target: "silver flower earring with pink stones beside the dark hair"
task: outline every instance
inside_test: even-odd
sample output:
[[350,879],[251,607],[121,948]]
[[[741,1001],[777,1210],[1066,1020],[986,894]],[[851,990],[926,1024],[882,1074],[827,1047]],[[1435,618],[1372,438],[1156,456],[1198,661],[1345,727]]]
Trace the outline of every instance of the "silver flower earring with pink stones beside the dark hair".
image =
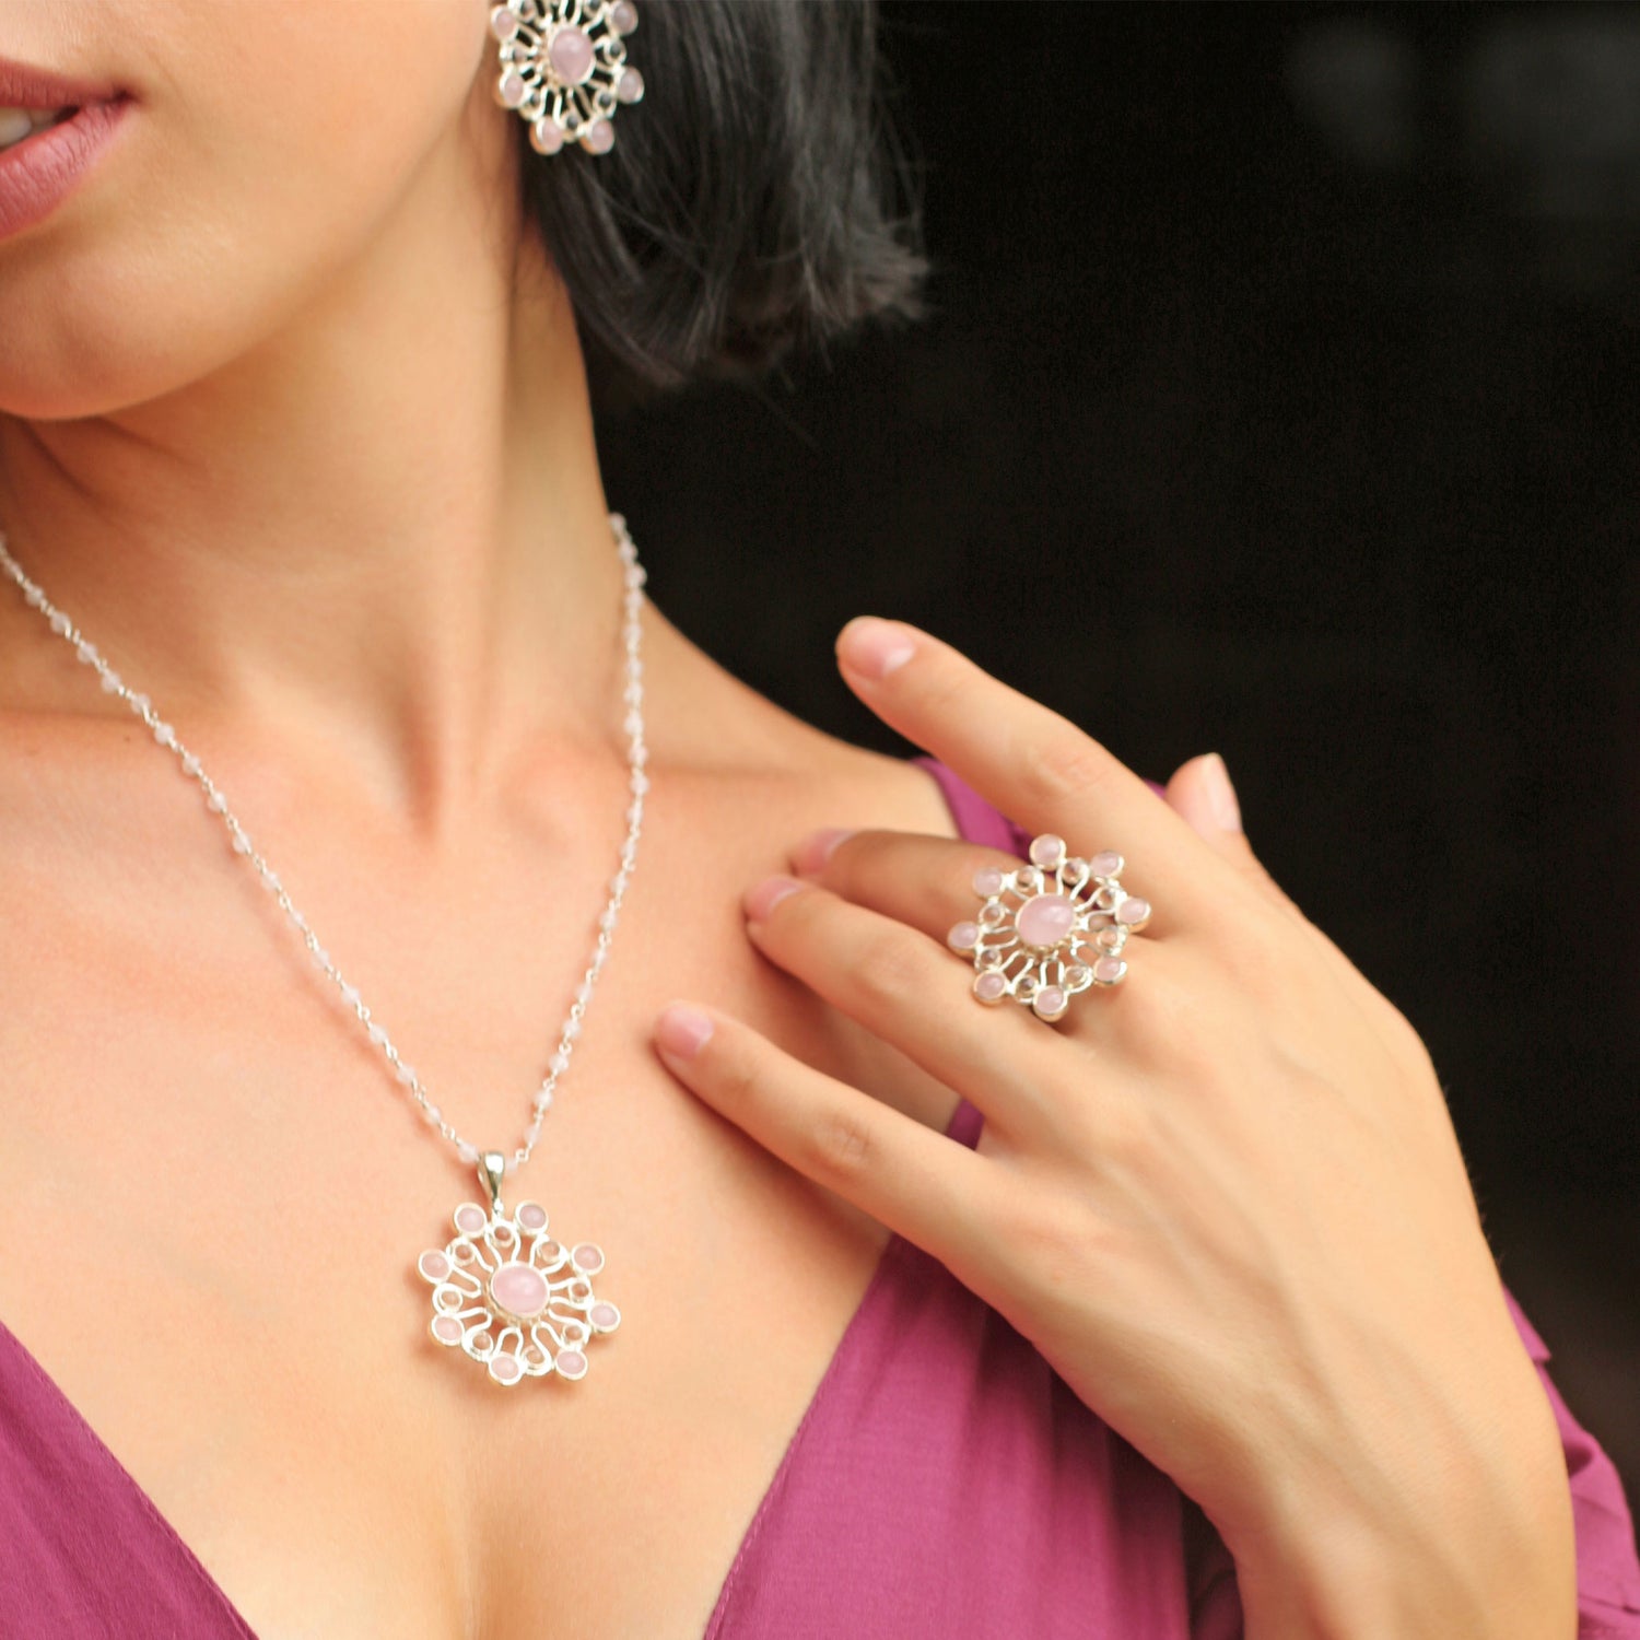
[[495,100],[530,126],[538,154],[564,143],[589,154],[615,146],[615,107],[643,97],[643,75],[626,66],[636,26],[631,0],[507,0],[490,11],[500,41]]

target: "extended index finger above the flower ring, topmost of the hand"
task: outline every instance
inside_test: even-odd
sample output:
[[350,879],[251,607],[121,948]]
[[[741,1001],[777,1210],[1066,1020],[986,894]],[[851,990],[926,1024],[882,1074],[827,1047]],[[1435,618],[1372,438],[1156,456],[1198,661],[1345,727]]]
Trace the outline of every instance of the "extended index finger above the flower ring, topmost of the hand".
[[1209,912],[1223,892],[1214,853],[1145,781],[950,645],[904,622],[859,617],[838,636],[838,664],[884,723],[1010,820],[1066,838],[1077,854],[1123,854],[1135,877],[1123,886],[1155,899],[1159,917]]

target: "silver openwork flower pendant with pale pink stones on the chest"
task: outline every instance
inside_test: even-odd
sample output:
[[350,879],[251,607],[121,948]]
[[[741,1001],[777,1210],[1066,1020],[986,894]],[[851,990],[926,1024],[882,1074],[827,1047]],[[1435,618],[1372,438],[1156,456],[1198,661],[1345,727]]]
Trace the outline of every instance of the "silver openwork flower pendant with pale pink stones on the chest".
[[592,1296],[604,1250],[592,1241],[566,1248],[546,1233],[546,1209],[500,1197],[505,1156],[487,1150],[479,1181],[489,1209],[462,1202],[454,1240],[428,1248],[417,1271],[433,1284],[430,1332],[482,1361],[497,1384],[525,1378],[587,1376],[587,1342],[620,1327],[620,1310]]

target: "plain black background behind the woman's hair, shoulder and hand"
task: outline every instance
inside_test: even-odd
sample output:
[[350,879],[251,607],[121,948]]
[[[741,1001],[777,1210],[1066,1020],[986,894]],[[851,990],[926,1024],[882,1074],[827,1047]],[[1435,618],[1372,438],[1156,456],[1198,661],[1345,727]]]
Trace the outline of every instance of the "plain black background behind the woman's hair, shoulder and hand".
[[1640,1496],[1640,8],[887,3],[933,317],[608,418],[656,600],[895,746],[900,615],[1164,779],[1217,748],[1424,1035]]

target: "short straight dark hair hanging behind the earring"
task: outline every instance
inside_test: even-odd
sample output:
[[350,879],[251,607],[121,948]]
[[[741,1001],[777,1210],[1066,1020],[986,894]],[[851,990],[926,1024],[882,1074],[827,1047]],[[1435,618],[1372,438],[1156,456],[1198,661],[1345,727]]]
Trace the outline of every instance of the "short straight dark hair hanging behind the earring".
[[927,264],[874,0],[636,0],[643,102],[615,148],[523,151],[525,207],[599,397],[756,376],[868,318]]

